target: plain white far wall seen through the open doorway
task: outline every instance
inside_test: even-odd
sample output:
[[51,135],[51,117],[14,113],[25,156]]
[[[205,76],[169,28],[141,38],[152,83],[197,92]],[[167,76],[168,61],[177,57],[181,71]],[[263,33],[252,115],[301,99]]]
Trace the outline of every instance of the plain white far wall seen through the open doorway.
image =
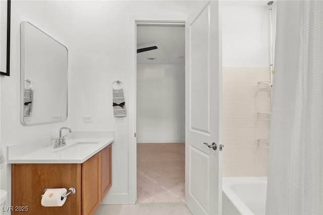
[[185,142],[185,65],[137,65],[137,143]]

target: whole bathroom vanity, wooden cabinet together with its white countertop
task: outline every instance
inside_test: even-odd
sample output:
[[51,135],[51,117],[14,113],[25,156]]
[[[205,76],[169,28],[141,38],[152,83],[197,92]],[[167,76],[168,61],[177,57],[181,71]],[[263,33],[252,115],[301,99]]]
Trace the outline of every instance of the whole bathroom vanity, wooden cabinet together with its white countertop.
[[[67,138],[67,146],[54,149],[51,144],[19,155],[11,153],[17,151],[18,145],[8,146],[12,214],[93,214],[112,186],[113,141],[114,138]],[[41,205],[45,188],[71,187],[76,193],[69,195],[63,206]]]

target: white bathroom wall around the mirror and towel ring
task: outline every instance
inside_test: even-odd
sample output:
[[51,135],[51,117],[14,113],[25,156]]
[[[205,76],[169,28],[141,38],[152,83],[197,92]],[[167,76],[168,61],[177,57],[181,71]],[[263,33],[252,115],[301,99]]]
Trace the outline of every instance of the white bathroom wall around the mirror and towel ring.
[[[133,15],[185,17],[192,1],[12,1],[11,76],[1,77],[1,144],[55,135],[62,126],[77,130],[114,130],[113,186],[103,203],[128,203],[128,117],[115,123],[111,84],[124,83],[128,101],[130,32]],[[29,21],[69,49],[69,112],[63,123],[20,123],[20,22]],[[92,115],[92,123],[82,116]],[[10,166],[1,188],[10,192]],[[10,199],[10,197],[9,197]],[[10,202],[9,202],[10,205]]]

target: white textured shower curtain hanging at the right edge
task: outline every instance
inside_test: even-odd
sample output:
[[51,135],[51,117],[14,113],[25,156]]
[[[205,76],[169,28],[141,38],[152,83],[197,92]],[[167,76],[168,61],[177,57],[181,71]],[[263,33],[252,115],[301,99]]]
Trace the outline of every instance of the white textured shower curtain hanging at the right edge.
[[277,1],[266,214],[323,214],[323,2]]

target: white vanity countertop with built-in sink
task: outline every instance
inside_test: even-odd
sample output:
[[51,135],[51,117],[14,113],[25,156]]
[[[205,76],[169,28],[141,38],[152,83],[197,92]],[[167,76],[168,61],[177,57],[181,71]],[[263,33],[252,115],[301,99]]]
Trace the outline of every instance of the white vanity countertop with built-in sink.
[[114,132],[74,132],[66,137],[66,146],[60,148],[53,148],[53,140],[55,138],[48,137],[8,146],[8,163],[82,164],[110,145],[114,141]]

